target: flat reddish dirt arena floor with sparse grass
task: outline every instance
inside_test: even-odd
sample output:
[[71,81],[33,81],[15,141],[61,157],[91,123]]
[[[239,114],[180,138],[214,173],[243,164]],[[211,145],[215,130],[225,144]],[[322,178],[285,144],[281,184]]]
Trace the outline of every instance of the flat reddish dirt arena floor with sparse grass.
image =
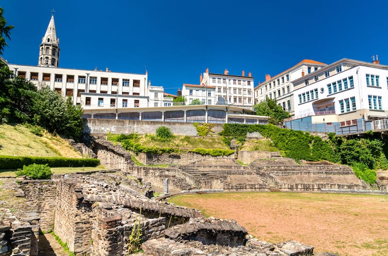
[[314,246],[314,252],[340,256],[388,255],[388,196],[248,192],[186,195],[169,202],[235,219],[260,240],[297,240]]

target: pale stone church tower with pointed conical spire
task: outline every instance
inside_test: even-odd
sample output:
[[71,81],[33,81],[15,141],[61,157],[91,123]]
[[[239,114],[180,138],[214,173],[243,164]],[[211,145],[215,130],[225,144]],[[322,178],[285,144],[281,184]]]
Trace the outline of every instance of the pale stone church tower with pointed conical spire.
[[59,39],[55,32],[54,10],[52,10],[49,26],[40,44],[38,66],[58,68],[59,50]]

